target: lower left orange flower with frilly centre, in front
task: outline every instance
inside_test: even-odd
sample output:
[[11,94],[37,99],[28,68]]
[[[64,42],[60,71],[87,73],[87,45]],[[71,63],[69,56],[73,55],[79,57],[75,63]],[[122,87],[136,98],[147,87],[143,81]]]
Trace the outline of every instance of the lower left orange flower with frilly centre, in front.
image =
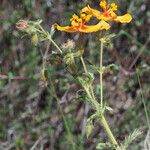
[[57,30],[60,31],[65,31],[65,32],[85,32],[85,33],[90,33],[90,32],[97,32],[99,30],[108,30],[110,28],[110,25],[106,23],[105,21],[100,21],[96,25],[85,25],[88,21],[91,19],[91,15],[87,15],[85,13],[82,13],[80,15],[80,18],[74,14],[72,18],[70,19],[71,21],[71,26],[59,26],[58,24],[54,24],[54,28],[57,28]]

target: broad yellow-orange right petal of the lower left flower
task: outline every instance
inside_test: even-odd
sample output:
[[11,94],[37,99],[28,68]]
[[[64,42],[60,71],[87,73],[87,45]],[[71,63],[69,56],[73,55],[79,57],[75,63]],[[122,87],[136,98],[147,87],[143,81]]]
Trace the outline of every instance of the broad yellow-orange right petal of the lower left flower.
[[109,28],[110,28],[110,25],[102,20],[97,25],[92,25],[92,26],[84,25],[79,28],[79,31],[85,32],[85,33],[91,33],[91,32],[97,32],[97,31],[104,30],[104,29],[108,30]]

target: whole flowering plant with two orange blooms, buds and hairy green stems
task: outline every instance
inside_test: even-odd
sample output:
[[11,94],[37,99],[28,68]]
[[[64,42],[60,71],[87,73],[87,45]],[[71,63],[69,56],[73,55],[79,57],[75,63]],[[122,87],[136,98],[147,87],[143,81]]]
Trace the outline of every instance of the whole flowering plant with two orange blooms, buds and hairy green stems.
[[[103,66],[103,47],[110,43],[112,34],[100,37],[100,62],[99,66],[92,65],[93,69],[99,73],[99,84],[100,84],[100,97],[97,97],[94,93],[94,74],[91,73],[84,61],[84,47],[83,47],[83,33],[92,33],[92,32],[104,32],[110,29],[110,21],[120,22],[120,23],[129,23],[132,20],[132,16],[127,13],[123,16],[118,16],[115,11],[117,10],[118,6],[115,3],[107,3],[105,0],[100,2],[100,7],[103,11],[99,11],[96,9],[91,8],[89,5],[84,7],[80,12],[80,17],[76,14],[73,14],[72,18],[70,19],[71,25],[70,26],[60,26],[58,24],[54,24],[52,27],[63,32],[78,32],[79,33],[79,42],[80,42],[80,50],[76,52],[72,52],[70,49],[66,53],[63,48],[60,48],[56,42],[52,39],[52,35],[54,32],[47,32],[41,26],[41,21],[18,21],[17,28],[27,34],[32,35],[32,41],[35,45],[37,45],[38,39],[40,38],[41,41],[49,41],[51,42],[56,49],[58,50],[59,54],[62,56],[63,63],[67,66],[67,70],[69,73],[74,77],[75,80],[79,82],[82,89],[86,93],[86,96],[83,98],[85,102],[88,102],[89,105],[95,110],[95,112],[87,119],[86,125],[86,134],[87,137],[91,134],[92,129],[94,127],[93,120],[98,120],[101,125],[103,126],[104,130],[106,131],[109,143],[106,143],[105,146],[111,147],[116,150],[125,150],[127,144],[121,145],[117,142],[115,136],[113,135],[109,124],[106,120],[106,111],[111,110],[110,107],[106,105],[103,96],[103,74],[104,72],[114,66],[114,64],[110,64],[108,66]],[[96,25],[86,25],[86,23],[90,22],[90,19],[95,17],[98,19],[98,23]],[[82,74],[78,72],[77,64],[75,63],[75,59],[80,59],[83,72]],[[43,66],[44,68],[44,66]],[[47,81],[47,74],[46,71],[42,70],[42,79],[46,82]],[[47,86],[47,84],[46,84]],[[100,101],[100,102],[99,102]],[[97,148],[104,146],[104,143],[100,143]]]

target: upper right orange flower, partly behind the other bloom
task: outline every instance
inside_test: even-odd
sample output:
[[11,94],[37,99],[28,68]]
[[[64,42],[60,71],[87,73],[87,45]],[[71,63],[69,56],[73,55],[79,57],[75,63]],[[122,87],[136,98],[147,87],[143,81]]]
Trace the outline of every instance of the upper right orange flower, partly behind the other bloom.
[[100,7],[102,8],[103,12],[92,9],[89,5],[83,8],[81,12],[92,15],[97,19],[104,21],[129,23],[132,20],[132,16],[128,13],[123,16],[117,16],[115,11],[118,9],[118,6],[115,3],[107,4],[106,0],[102,0],[100,2]]

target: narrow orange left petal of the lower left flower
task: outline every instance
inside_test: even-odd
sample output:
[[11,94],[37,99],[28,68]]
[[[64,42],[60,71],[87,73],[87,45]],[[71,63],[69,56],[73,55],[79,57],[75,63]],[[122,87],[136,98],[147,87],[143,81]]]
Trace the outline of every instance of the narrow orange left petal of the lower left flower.
[[61,27],[58,24],[54,24],[53,26],[54,26],[54,28],[56,28],[59,31],[65,31],[65,32],[77,32],[78,31],[78,29],[76,27],[73,27],[73,26]]

